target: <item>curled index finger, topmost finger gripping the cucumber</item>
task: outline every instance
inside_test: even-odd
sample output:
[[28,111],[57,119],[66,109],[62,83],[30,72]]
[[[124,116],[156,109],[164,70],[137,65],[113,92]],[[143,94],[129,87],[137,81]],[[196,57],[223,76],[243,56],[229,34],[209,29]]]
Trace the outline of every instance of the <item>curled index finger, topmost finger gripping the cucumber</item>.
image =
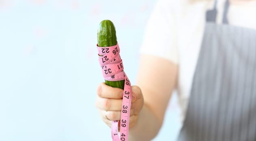
[[97,89],[97,94],[99,97],[121,99],[123,98],[123,89],[110,87],[105,83],[100,83]]

